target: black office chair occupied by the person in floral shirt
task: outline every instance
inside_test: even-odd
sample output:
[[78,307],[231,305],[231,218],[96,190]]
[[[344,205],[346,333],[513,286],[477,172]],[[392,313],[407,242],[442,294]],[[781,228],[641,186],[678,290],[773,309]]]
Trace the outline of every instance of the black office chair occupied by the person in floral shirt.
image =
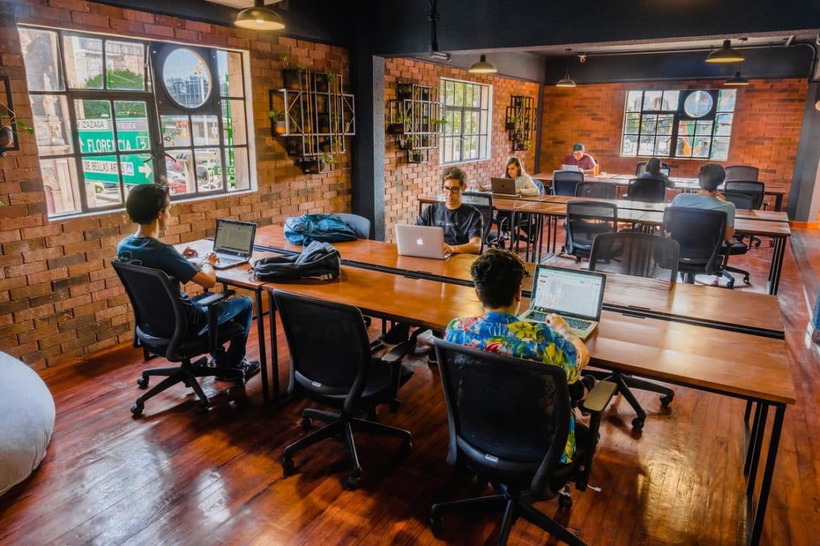
[[565,485],[575,482],[577,490],[586,489],[600,415],[615,386],[600,382],[587,396],[584,408],[591,413],[590,426],[575,423],[575,456],[572,463],[561,463],[572,416],[563,368],[439,339],[435,351],[449,422],[447,463],[471,469],[480,481],[497,484],[501,492],[434,504],[433,530],[441,530],[446,513],[498,510],[504,514],[498,544],[507,544],[519,517],[567,544],[584,544],[532,503],[561,495],[561,505],[569,506],[572,498],[563,491]]

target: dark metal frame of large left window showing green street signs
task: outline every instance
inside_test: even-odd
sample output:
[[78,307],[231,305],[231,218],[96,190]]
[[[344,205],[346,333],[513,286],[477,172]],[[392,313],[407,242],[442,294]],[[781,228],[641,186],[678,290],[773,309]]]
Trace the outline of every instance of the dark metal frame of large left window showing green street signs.
[[[81,215],[88,215],[88,214],[104,214],[107,212],[112,212],[116,210],[124,210],[125,209],[125,183],[123,181],[123,173],[121,169],[121,158],[122,156],[134,156],[134,155],[148,155],[151,156],[151,162],[153,164],[153,180],[155,183],[162,183],[166,187],[168,187],[168,173],[166,168],[166,154],[168,151],[180,151],[180,150],[190,150],[194,154],[193,159],[193,169],[194,172],[192,173],[194,176],[194,191],[193,192],[185,192],[185,193],[176,193],[171,195],[172,201],[190,201],[202,197],[212,197],[212,196],[230,196],[235,193],[239,192],[247,192],[253,191],[256,188],[256,180],[255,174],[256,169],[255,165],[253,165],[253,160],[255,159],[255,151],[253,151],[253,124],[252,118],[248,109],[252,108],[252,98],[250,97],[251,89],[248,85],[248,74],[246,74],[247,69],[247,56],[244,52],[229,49],[229,48],[222,48],[222,47],[202,47],[194,44],[183,44],[183,43],[175,43],[175,42],[165,42],[165,41],[157,41],[157,40],[146,40],[140,38],[130,38],[127,36],[119,36],[116,34],[98,34],[93,32],[84,32],[74,29],[59,29],[59,28],[52,28],[52,27],[45,27],[39,25],[25,25],[20,24],[17,25],[18,29],[27,29],[27,30],[36,30],[36,31],[43,31],[49,32],[56,35],[56,49],[55,55],[57,56],[56,64],[57,70],[59,70],[60,78],[62,79],[62,89],[57,90],[43,90],[43,91],[32,91],[29,90],[28,93],[31,97],[43,97],[43,96],[52,96],[58,97],[58,100],[62,101],[65,100],[66,104],[66,112],[62,115],[62,122],[68,124],[64,130],[66,133],[70,133],[70,141],[71,141],[71,153],[62,153],[62,154],[55,154],[55,155],[41,155],[41,151],[38,148],[38,160],[73,160],[73,165],[75,168],[75,176],[76,180],[71,180],[71,184],[75,185],[76,187],[71,187],[71,192],[76,192],[75,197],[77,201],[79,201],[80,206],[79,210],[71,210],[61,213],[54,213],[49,214],[49,219],[65,219],[71,218],[73,216],[81,216]],[[69,38],[87,38],[98,40],[101,43],[101,52],[102,52],[102,77],[103,77],[103,88],[100,89],[91,89],[91,88],[76,88],[71,86],[71,81],[69,79],[68,68],[66,66],[66,43],[65,40]],[[134,90],[134,89],[110,89],[107,88],[108,81],[107,81],[107,73],[108,73],[108,62],[107,62],[107,42],[125,42],[125,43],[133,43],[134,45],[139,45],[143,48],[143,85],[144,88],[142,91]],[[155,49],[160,49],[166,52],[166,55],[171,54],[171,52],[176,51],[178,49],[190,49],[194,52],[197,52],[198,55],[203,56],[203,59],[207,61],[207,68],[210,71],[211,76],[211,92],[207,98],[207,101],[197,108],[187,109],[178,105],[176,102],[171,102],[171,108],[167,108],[164,105],[161,105],[161,97],[162,100],[166,100],[168,97],[165,89],[165,83],[162,79],[162,65],[157,65],[155,62],[156,52]],[[222,95],[222,87],[219,80],[219,66],[217,63],[217,56],[219,52],[225,52],[230,58],[230,54],[234,53],[237,54],[237,58],[240,63],[239,67],[239,74],[242,81],[242,95],[236,95],[235,91],[232,91],[228,88],[227,94],[225,96]],[[24,56],[24,63],[25,63],[25,56]],[[227,74],[228,66],[230,65],[230,61],[225,65],[225,70]],[[59,87],[59,85],[56,85]],[[98,151],[98,152],[83,152],[82,147],[80,147],[80,131],[78,129],[78,122],[77,122],[77,110],[75,101],[89,101],[89,100],[97,100],[108,102],[112,108],[111,114],[111,124],[112,124],[112,138],[115,141],[115,150],[114,151]],[[223,116],[223,102],[236,102],[241,101],[243,106],[243,116],[242,116],[242,123],[244,124],[244,144],[235,144],[231,142],[229,144],[229,139],[225,133],[225,118]],[[142,102],[145,104],[146,108],[146,118],[148,124],[148,142],[150,142],[150,147],[148,149],[138,149],[138,150],[121,150],[118,146],[116,146],[117,140],[117,128],[116,128],[116,102]],[[61,103],[62,104],[62,103]],[[61,106],[62,107],[62,106]],[[230,106],[229,106],[230,108]],[[188,117],[189,123],[189,133],[190,133],[190,143],[188,146],[180,146],[180,147],[166,147],[165,142],[163,142],[163,133],[162,133],[162,124],[161,124],[161,115],[186,115]],[[193,125],[193,118],[198,115],[216,115],[216,121],[218,125],[218,137],[216,138],[215,144],[203,144],[203,145],[194,145],[194,125]],[[236,178],[234,178],[235,182],[235,189],[230,190],[229,188],[229,179],[228,179],[228,166],[225,164],[225,160],[229,157],[229,153],[235,159],[235,151],[239,148],[244,148],[246,151],[244,153],[245,161],[247,161],[247,165],[244,165],[244,169],[247,172],[248,181],[247,181],[247,188],[239,187],[239,184],[236,183]],[[196,171],[197,171],[197,163],[195,160],[196,153],[198,150],[206,150],[206,149],[214,149],[217,151],[219,155],[219,166],[220,166],[220,173],[221,173],[221,187],[211,191],[202,191],[199,187],[198,179],[196,178]],[[112,203],[111,205],[102,205],[102,206],[94,206],[89,207],[89,198],[87,192],[87,178],[84,173],[83,169],[83,160],[93,159],[94,157],[101,157],[101,156],[115,156],[118,170],[118,191],[119,191],[119,202]],[[234,165],[234,169],[236,169],[237,165]],[[75,201],[76,202],[76,201]]]

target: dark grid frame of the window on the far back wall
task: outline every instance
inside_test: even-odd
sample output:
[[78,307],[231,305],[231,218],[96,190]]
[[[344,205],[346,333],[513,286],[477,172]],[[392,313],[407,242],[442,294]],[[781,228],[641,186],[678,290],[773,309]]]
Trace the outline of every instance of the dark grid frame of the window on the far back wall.
[[[712,97],[712,106],[709,108],[708,112],[704,115],[699,117],[694,117],[686,113],[685,110],[685,103],[686,99],[690,97],[693,93],[704,92],[708,93],[710,97]],[[735,101],[732,103],[731,111],[730,110],[720,110],[720,96],[721,93],[728,93],[734,92],[735,93]],[[630,111],[629,107],[629,98],[630,93],[640,93],[640,109],[636,111]],[[647,109],[645,108],[645,101],[646,101],[646,93],[661,93],[662,103],[660,109]],[[665,93],[678,93],[677,97],[677,105],[675,108],[670,108],[667,110],[663,109],[663,96]],[[686,160],[700,160],[700,161],[723,161],[727,160],[729,154],[729,147],[731,146],[731,125],[734,124],[734,115],[736,110],[736,102],[737,102],[737,91],[736,89],[628,89],[626,91],[626,96],[624,97],[624,114],[623,114],[623,124],[621,130],[621,150],[619,156],[621,157],[663,157],[669,159],[686,159]],[[717,116],[718,115],[725,115],[731,114],[732,115],[732,123],[729,127],[728,134],[717,134]],[[637,133],[627,133],[627,122],[629,121],[630,115],[638,115],[638,129]],[[654,132],[652,136],[654,138],[654,153],[652,154],[643,154],[640,153],[640,142],[641,137],[649,136],[649,133],[644,133],[644,119],[645,116],[661,116],[661,115],[672,115],[672,132],[669,133],[669,152],[667,154],[659,154],[657,151],[657,139],[658,136],[666,136],[665,134],[658,135],[658,124],[657,118],[656,123],[654,126]],[[693,133],[691,135],[687,135],[687,138],[691,138],[692,140],[692,147],[694,147],[695,139],[698,137],[708,137],[708,153],[705,156],[698,156],[695,157],[693,155],[685,156],[685,155],[678,155],[677,153],[677,146],[678,146],[678,138],[680,137],[680,127],[681,122],[694,122],[693,125]],[[697,124],[699,122],[709,122],[711,124],[711,129],[709,130],[708,134],[698,134],[697,133]],[[635,137],[635,154],[625,154],[624,153],[624,143],[626,142],[626,137]],[[726,158],[713,158],[713,151],[714,151],[714,143],[715,138],[726,139],[727,142],[727,157]]]

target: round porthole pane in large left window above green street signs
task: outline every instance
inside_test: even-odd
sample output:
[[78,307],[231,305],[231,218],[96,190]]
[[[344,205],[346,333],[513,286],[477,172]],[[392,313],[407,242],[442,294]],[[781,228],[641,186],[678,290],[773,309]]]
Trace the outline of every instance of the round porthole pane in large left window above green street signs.
[[186,47],[180,47],[165,59],[162,84],[177,105],[198,108],[205,104],[211,94],[211,71],[202,56]]

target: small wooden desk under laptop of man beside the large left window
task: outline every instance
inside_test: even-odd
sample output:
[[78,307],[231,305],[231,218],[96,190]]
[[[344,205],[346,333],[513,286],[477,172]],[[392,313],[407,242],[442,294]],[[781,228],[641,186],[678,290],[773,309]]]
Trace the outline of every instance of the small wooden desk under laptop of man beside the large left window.
[[[175,245],[176,250],[182,252],[186,246],[190,246],[197,250],[199,255],[205,255],[213,250],[213,241],[210,239],[199,239],[187,243],[180,243]],[[273,252],[265,252],[254,250],[251,257],[251,263],[254,260],[267,258],[268,256],[275,256]],[[248,273],[248,264],[237,265],[227,269],[215,269],[216,282],[221,282],[223,285],[230,287],[244,288],[245,290],[253,291],[255,296],[256,311],[257,311],[257,331],[259,334],[259,367],[262,368],[262,404],[267,405],[270,402],[270,394],[268,393],[267,380],[267,356],[265,344],[265,321],[262,318],[262,294],[265,292],[265,283],[257,281],[253,278],[253,273]],[[276,361],[276,331],[271,331],[271,339],[274,344],[274,350],[271,353],[271,358]],[[277,366],[275,364],[274,368]]]

